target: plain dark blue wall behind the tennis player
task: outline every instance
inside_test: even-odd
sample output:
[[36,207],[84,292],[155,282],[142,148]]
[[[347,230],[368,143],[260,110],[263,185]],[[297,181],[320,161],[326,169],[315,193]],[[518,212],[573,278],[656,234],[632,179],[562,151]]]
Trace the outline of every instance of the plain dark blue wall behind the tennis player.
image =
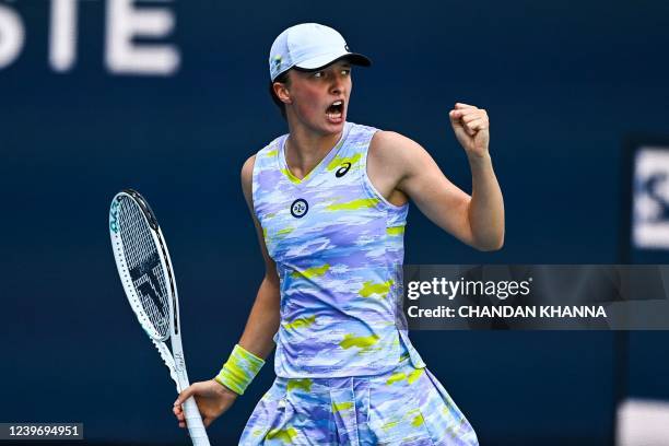
[[[186,444],[174,386],[117,278],[117,190],[142,191],[168,239],[191,379],[215,374],[244,328],[263,270],[239,169],[285,130],[266,92],[284,27],[329,24],[372,57],[353,74],[350,119],[415,139],[465,189],[447,113],[458,101],[489,110],[504,249],[476,253],[413,209],[408,263],[615,263],[623,138],[669,134],[664,1],[160,3],[183,58],[168,78],[105,70],[102,1],[80,4],[66,74],[47,62],[49,3],[2,4],[26,44],[0,71],[0,421],[80,421],[91,442]],[[611,443],[612,333],[412,339],[482,444]],[[631,334],[632,395],[669,398],[667,341]],[[234,444],[271,379],[268,366],[211,427],[214,444]]]

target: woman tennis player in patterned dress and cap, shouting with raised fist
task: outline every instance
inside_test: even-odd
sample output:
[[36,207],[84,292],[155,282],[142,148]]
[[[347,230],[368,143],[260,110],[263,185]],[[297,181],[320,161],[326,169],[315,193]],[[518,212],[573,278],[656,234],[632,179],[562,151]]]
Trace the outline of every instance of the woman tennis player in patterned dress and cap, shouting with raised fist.
[[401,134],[347,120],[351,66],[369,66],[334,30],[300,24],[274,40],[271,94],[289,133],[242,168],[267,271],[220,374],[196,383],[204,424],[244,392],[277,347],[277,378],[240,445],[476,445],[471,425],[398,322],[411,199],[444,231],[482,250],[504,239],[504,206],[484,109],[455,104],[472,195]]

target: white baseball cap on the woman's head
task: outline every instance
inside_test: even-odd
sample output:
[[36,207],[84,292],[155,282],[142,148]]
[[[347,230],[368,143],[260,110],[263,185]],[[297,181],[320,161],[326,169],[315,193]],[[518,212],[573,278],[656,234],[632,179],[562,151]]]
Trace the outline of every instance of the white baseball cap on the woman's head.
[[331,27],[318,23],[301,23],[285,30],[274,39],[269,58],[270,78],[274,81],[293,67],[318,70],[343,58],[353,64],[372,64],[367,57],[351,52],[342,35]]

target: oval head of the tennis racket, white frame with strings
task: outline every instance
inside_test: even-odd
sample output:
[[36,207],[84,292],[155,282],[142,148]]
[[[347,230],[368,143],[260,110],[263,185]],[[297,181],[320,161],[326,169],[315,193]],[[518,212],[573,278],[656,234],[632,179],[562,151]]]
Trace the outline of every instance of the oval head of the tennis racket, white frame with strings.
[[109,235],[130,307],[149,337],[167,340],[178,332],[176,281],[157,219],[138,191],[111,200]]

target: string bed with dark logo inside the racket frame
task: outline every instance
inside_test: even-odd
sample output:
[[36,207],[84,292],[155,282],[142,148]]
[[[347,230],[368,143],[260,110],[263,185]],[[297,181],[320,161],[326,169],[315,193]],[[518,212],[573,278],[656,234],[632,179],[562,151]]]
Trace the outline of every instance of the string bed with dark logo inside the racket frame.
[[142,309],[155,331],[165,337],[169,331],[169,296],[165,274],[149,223],[130,198],[120,201],[119,234]]

